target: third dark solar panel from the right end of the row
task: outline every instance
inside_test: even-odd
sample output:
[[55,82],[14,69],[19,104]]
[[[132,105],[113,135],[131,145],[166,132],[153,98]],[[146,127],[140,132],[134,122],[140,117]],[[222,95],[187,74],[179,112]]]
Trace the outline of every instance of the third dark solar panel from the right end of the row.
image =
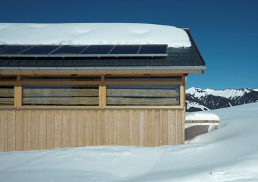
[[80,54],[108,54],[115,45],[90,45]]

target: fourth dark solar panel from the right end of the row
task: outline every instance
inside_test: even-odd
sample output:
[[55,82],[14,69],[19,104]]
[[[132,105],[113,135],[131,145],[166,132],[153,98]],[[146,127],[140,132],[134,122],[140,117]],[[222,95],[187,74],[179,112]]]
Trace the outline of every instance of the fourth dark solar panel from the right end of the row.
[[51,54],[79,54],[88,45],[63,45],[61,48],[55,50]]

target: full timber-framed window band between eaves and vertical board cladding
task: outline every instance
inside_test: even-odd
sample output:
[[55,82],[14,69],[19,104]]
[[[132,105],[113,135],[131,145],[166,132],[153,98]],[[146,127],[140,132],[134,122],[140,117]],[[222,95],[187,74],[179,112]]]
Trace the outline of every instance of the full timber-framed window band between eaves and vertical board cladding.
[[2,78],[0,108],[183,109],[184,104],[181,75]]

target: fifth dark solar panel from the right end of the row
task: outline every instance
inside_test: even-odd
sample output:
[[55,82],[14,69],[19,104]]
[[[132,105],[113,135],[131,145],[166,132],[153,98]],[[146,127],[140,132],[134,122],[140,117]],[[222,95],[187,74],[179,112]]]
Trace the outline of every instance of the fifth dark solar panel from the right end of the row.
[[21,54],[49,54],[56,48],[58,48],[60,45],[36,45],[33,48],[26,50],[24,52],[21,52]]

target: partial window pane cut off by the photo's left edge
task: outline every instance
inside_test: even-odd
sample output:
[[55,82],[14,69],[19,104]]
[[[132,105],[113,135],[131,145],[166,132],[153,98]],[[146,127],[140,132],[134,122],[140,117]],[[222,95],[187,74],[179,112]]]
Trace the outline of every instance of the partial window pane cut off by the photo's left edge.
[[14,85],[0,85],[0,105],[14,105]]

